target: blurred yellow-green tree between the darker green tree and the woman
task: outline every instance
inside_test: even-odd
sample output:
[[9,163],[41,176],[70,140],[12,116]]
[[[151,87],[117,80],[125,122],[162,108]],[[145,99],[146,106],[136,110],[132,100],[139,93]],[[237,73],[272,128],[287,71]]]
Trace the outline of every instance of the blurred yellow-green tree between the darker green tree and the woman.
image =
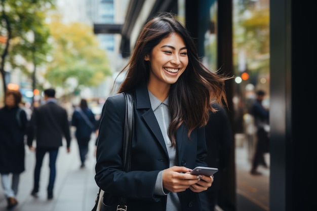
[[52,86],[74,92],[82,87],[98,86],[111,75],[106,52],[99,48],[90,25],[62,23],[55,15],[50,30],[54,49],[45,78]]

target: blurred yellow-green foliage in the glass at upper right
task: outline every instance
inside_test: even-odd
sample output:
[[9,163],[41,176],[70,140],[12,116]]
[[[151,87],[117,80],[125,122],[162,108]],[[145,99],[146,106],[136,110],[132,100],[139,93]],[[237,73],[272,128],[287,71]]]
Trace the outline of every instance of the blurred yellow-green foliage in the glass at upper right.
[[[245,1],[236,6],[239,12],[234,24],[234,53],[243,50],[248,71],[269,71],[269,8],[254,7],[254,2]],[[237,67],[239,56],[235,55]]]

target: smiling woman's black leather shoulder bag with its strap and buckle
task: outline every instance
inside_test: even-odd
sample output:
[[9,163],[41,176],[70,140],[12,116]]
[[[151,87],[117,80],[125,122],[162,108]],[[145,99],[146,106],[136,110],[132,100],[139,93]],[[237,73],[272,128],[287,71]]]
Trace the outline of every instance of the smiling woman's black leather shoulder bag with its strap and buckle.
[[[125,172],[130,171],[131,165],[131,142],[132,131],[134,123],[133,96],[128,93],[123,93],[126,99],[126,114],[125,114],[125,131],[124,131],[124,143],[123,143],[123,169]],[[100,197],[102,195],[102,197]],[[106,205],[107,204],[107,205]],[[97,193],[95,206],[92,211],[127,211],[128,205],[126,198],[113,197],[111,194],[104,193],[101,188]]]

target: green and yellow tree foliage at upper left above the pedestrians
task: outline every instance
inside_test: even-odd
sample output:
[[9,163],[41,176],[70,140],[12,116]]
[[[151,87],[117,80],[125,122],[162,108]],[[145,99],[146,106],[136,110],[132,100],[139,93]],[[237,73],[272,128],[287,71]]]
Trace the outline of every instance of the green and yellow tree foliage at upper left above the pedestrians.
[[74,90],[98,86],[111,75],[106,53],[99,48],[93,29],[83,23],[61,23],[57,15],[48,18],[49,13],[54,14],[54,4],[54,0],[0,0],[4,91],[5,72],[15,68],[30,80],[34,79],[34,69],[41,68],[36,76],[43,74],[54,87],[68,88],[68,79],[75,79]]

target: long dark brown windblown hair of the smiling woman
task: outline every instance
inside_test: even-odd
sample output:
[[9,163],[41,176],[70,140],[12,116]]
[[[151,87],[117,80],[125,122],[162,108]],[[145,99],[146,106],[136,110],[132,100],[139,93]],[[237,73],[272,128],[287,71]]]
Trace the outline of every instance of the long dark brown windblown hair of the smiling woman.
[[150,67],[144,57],[160,41],[171,33],[178,33],[187,47],[188,66],[171,85],[169,92],[171,123],[169,137],[172,146],[176,145],[176,131],[185,123],[190,133],[197,127],[207,124],[209,110],[215,112],[212,102],[221,105],[227,104],[224,90],[224,81],[229,79],[218,71],[211,72],[200,61],[196,46],[187,29],[175,19],[171,13],[160,13],[150,19],[143,27],[128,64],[120,72],[127,70],[125,80],[122,82],[118,93],[133,92],[140,83],[149,78]]

